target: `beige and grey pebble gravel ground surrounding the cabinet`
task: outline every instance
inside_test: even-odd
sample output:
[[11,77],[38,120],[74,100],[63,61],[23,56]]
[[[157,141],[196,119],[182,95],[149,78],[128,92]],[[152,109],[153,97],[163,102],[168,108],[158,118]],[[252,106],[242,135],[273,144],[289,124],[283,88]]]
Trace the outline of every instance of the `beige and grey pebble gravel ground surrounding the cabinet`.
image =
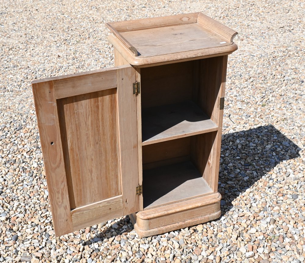
[[[0,262],[304,261],[303,1],[0,3]],[[120,218],[54,238],[30,82],[113,66],[106,21],[203,11],[237,30],[229,56],[222,216],[140,238]]]

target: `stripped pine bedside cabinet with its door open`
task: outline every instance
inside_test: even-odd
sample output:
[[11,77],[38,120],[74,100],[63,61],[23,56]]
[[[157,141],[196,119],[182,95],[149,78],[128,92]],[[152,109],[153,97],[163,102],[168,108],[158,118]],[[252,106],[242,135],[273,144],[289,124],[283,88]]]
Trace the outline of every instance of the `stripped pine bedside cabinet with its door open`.
[[140,236],[217,219],[237,32],[201,12],[106,26],[114,68],[32,82],[56,236],[124,215]]

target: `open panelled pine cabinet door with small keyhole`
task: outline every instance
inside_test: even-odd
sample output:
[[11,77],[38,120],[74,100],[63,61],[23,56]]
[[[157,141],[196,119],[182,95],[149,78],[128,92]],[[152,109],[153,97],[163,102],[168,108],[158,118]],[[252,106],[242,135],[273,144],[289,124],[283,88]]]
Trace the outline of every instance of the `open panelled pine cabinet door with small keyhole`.
[[139,211],[135,69],[32,82],[56,236]]

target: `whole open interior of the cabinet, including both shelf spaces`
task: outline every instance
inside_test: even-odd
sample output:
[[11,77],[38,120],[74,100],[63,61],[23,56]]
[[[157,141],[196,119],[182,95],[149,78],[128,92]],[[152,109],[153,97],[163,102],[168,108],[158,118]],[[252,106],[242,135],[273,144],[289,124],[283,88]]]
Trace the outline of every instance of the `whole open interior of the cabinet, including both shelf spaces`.
[[217,191],[223,59],[141,68],[144,209]]

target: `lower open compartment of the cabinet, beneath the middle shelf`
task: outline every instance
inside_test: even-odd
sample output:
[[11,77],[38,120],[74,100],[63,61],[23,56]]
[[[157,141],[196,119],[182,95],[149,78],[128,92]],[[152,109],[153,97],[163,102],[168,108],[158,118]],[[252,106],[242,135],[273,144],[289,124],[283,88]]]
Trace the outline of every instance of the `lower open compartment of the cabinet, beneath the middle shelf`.
[[213,193],[208,158],[217,131],[148,144],[143,154],[143,207]]

